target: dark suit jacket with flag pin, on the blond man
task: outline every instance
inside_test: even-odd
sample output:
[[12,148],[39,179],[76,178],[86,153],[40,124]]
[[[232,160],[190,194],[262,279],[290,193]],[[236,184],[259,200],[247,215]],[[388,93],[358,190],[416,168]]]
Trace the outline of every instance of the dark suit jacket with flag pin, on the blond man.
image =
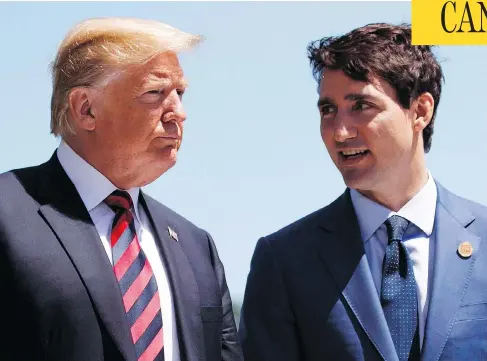
[[[140,199],[167,270],[181,360],[242,361],[210,235],[146,194]],[[56,155],[0,175],[0,287],[1,360],[136,360],[112,267]]]

